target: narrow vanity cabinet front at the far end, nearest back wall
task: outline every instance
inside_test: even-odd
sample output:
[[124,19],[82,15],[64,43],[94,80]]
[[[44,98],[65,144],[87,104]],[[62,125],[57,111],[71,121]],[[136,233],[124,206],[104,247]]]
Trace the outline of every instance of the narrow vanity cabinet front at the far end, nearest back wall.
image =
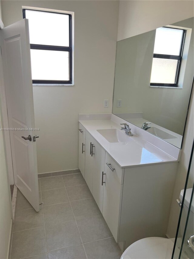
[[[81,132],[82,131],[82,132]],[[85,128],[79,124],[79,160],[78,167],[85,177]]]

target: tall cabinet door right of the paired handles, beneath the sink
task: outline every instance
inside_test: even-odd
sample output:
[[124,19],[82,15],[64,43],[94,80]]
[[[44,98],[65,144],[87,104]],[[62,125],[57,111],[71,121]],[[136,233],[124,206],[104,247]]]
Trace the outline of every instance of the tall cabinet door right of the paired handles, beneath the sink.
[[94,141],[94,145],[92,195],[102,212],[104,192],[104,184],[102,185],[102,172],[104,173],[105,169],[105,150],[96,141]]

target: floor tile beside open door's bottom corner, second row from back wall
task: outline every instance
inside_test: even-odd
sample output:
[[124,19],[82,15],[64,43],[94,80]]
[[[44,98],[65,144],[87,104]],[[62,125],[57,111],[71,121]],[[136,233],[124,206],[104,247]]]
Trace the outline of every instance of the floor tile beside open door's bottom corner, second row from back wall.
[[67,193],[65,188],[52,189],[42,191],[42,202],[43,206],[68,202]]

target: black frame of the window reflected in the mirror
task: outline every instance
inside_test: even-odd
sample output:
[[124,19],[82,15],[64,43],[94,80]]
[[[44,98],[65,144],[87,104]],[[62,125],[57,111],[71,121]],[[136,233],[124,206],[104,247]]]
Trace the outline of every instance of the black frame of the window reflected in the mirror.
[[151,83],[150,86],[158,86],[158,87],[178,87],[178,82],[179,82],[179,75],[180,75],[180,69],[181,69],[181,61],[182,61],[182,53],[183,53],[183,48],[184,48],[184,43],[185,43],[185,37],[186,37],[186,30],[185,29],[179,29],[175,27],[168,27],[168,26],[163,26],[163,28],[169,28],[169,29],[176,29],[176,30],[182,30],[182,39],[181,39],[181,46],[180,46],[180,51],[179,55],[165,55],[165,54],[157,54],[153,53],[153,58],[163,58],[163,59],[172,59],[172,60],[177,60],[177,67],[176,67],[176,80],[175,83]]

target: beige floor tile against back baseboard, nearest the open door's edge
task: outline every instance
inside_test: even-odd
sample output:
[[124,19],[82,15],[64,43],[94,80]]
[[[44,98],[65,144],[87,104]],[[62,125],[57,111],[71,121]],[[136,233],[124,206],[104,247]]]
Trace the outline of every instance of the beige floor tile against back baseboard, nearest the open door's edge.
[[40,184],[41,184],[41,191],[64,187],[62,176],[41,178]]

